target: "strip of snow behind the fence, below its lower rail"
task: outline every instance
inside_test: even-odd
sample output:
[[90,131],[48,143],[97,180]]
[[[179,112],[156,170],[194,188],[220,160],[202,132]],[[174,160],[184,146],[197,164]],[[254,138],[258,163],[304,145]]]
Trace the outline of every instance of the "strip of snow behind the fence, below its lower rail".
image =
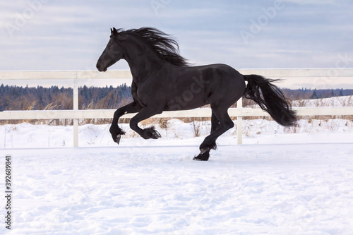
[[[236,121],[235,121],[235,124]],[[210,121],[184,123],[179,119],[167,121],[167,128],[155,125],[162,135],[158,140],[143,140],[128,124],[119,124],[126,135],[121,146],[200,145],[210,133]],[[116,147],[109,133],[109,124],[86,124],[78,127],[79,147]],[[150,126],[150,124],[145,127]],[[142,126],[143,127],[143,126]],[[198,130],[198,131],[196,131]],[[198,133],[199,137],[196,137]],[[298,126],[285,128],[275,121],[264,119],[243,121],[244,144],[291,144],[291,143],[353,143],[353,121],[329,119],[326,121],[299,120]],[[237,125],[218,139],[221,145],[237,143]],[[72,147],[72,126],[48,126],[21,123],[0,126],[0,149]],[[196,149],[197,150],[197,149]]]

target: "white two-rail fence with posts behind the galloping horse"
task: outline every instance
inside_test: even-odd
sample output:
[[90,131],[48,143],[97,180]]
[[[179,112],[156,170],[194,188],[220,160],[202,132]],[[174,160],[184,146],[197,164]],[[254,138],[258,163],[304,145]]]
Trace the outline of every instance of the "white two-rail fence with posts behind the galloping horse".
[[[300,68],[300,69],[241,69],[242,74],[258,74],[268,78],[328,78],[353,77],[353,68]],[[78,147],[78,119],[110,119],[115,109],[79,110],[78,109],[78,80],[79,79],[126,79],[132,78],[130,71],[0,71],[0,80],[37,80],[37,79],[65,79],[72,80],[73,110],[31,110],[0,112],[0,120],[18,119],[73,119],[73,146]],[[313,115],[353,115],[353,107],[297,107],[294,108],[299,116]],[[237,143],[242,143],[243,116],[269,116],[261,109],[243,108],[242,102],[237,102],[236,109],[228,110],[229,116],[237,116]],[[134,114],[126,114],[131,118]],[[189,111],[163,112],[155,115],[157,118],[180,117],[210,117],[210,109],[193,109]]]

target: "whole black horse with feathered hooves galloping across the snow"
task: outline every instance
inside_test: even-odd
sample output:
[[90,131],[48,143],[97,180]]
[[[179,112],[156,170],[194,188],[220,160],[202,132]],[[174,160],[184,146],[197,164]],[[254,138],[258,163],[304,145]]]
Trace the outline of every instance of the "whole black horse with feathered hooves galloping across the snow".
[[[107,71],[125,59],[133,76],[133,102],[116,110],[109,131],[119,144],[124,131],[118,126],[121,116],[138,113],[130,127],[145,139],[160,138],[155,128],[141,129],[138,123],[163,111],[187,110],[210,104],[211,133],[200,145],[195,160],[207,161],[217,138],[234,126],[227,110],[243,95],[260,105],[277,123],[292,126],[297,120],[291,104],[277,86],[258,75],[241,75],[225,64],[190,66],[179,55],[177,42],[155,28],[111,29],[110,40],[97,61],[98,71]],[[247,81],[247,85],[245,83]]]

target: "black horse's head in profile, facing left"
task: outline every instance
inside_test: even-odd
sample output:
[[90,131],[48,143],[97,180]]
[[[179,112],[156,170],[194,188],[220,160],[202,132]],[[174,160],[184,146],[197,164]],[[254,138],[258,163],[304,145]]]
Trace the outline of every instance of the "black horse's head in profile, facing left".
[[124,56],[124,49],[121,46],[121,41],[125,40],[126,37],[119,35],[116,28],[110,29],[110,32],[111,35],[107,47],[105,47],[100,59],[97,61],[97,69],[100,72],[107,71],[109,66],[112,66]]

